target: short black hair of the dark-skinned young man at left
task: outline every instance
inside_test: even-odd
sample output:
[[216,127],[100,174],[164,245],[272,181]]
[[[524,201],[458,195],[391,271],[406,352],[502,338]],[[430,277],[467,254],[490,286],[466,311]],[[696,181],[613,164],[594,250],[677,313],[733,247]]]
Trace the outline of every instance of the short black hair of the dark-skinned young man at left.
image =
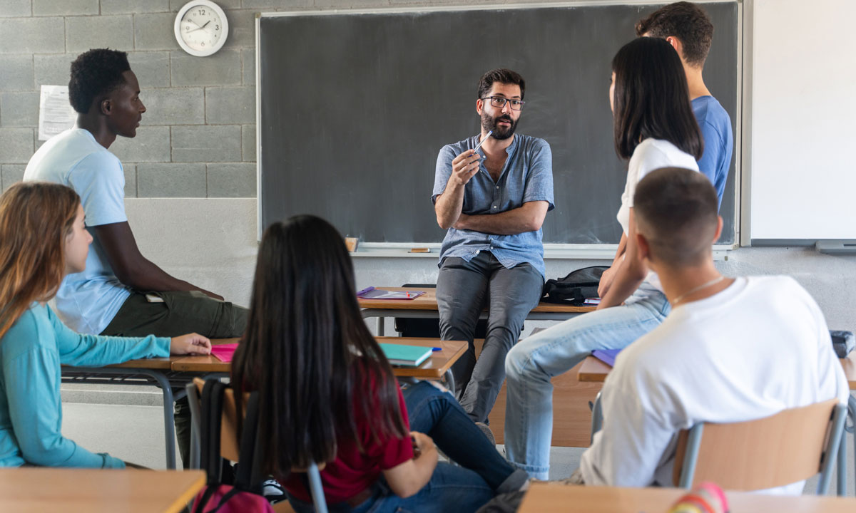
[[109,48],[86,51],[71,63],[68,101],[80,114],[86,114],[92,102],[125,84],[122,76],[131,70],[128,53]]

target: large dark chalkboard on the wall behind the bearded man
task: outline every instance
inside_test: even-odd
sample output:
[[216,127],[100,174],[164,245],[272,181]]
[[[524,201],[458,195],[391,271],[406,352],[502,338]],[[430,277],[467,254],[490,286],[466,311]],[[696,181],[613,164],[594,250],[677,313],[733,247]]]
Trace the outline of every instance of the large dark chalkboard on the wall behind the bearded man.
[[[612,141],[610,62],[658,6],[262,15],[260,228],[309,213],[362,241],[442,241],[437,151],[479,133],[479,77],[505,67],[526,79],[517,132],[553,152],[544,242],[616,244],[627,163]],[[705,82],[734,123],[738,6],[704,9],[716,27]],[[721,244],[734,242],[734,200],[732,164]]]

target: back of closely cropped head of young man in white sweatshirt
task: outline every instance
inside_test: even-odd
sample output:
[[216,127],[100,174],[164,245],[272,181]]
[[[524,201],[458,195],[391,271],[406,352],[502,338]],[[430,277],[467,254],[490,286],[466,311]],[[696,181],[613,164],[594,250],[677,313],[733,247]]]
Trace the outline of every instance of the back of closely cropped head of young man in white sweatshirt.
[[651,258],[670,266],[698,265],[710,257],[718,225],[716,189],[704,174],[660,168],[636,185],[633,215]]

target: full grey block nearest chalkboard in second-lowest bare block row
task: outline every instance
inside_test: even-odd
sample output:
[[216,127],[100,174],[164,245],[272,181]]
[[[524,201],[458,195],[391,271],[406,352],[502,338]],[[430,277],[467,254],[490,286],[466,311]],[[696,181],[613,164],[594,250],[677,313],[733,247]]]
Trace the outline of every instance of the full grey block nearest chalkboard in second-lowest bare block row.
[[172,162],[241,162],[241,126],[172,127]]

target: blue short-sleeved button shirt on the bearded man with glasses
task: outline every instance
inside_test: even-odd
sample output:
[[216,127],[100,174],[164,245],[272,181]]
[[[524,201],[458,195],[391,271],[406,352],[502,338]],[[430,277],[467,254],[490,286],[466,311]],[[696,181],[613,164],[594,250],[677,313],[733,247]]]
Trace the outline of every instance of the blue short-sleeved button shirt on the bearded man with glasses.
[[[446,190],[455,156],[475,148],[480,137],[474,135],[458,143],[447,144],[440,150],[434,173],[433,202],[437,203],[437,196]],[[546,201],[550,203],[548,210],[553,209],[553,154],[550,144],[544,139],[515,134],[506,153],[505,167],[494,182],[484,167],[484,152],[479,149],[482,156],[479,173],[473,175],[464,188],[463,214],[498,214],[531,201]],[[479,251],[490,251],[504,268],[526,262],[544,277],[541,237],[541,229],[515,235],[496,235],[449,227],[440,250],[440,263],[446,257],[461,257],[469,262]]]

